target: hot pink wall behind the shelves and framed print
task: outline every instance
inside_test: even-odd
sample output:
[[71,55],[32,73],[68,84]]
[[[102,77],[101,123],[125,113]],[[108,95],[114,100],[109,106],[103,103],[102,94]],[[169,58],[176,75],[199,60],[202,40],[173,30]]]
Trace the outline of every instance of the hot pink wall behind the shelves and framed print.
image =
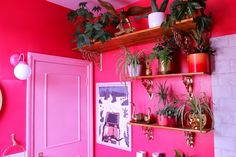
[[[158,0],[160,2],[160,0]],[[222,7],[221,0],[208,0],[207,8],[213,13],[214,27],[213,36],[222,36],[226,34],[233,34],[236,32],[236,17],[234,16],[233,7],[236,4],[233,0],[224,1]],[[149,1],[140,0],[133,5],[148,6]],[[227,9],[226,9],[227,8]],[[138,29],[147,28],[147,21],[142,19],[133,24]],[[151,50],[152,44],[140,45],[130,48],[130,50]],[[119,81],[118,76],[115,74],[115,53],[120,50],[114,50],[107,52],[103,55],[103,71],[95,70],[95,82],[114,82]],[[114,66],[111,66],[114,65]],[[184,85],[182,84],[181,77],[175,78],[163,78],[156,79],[156,81],[164,81],[168,79],[168,84],[172,86],[175,93],[186,93]],[[209,96],[212,96],[211,76],[195,76],[194,77],[194,93],[207,92]],[[132,101],[138,105],[140,111],[145,111],[150,105],[148,96],[140,81],[134,81],[132,83]],[[153,107],[155,109],[155,107]],[[214,132],[208,134],[197,134],[194,149],[189,148],[186,145],[184,132],[168,131],[155,129],[154,140],[148,141],[143,135],[143,131],[140,127],[132,127],[132,152],[114,149],[111,147],[95,144],[95,154],[97,157],[110,157],[112,156],[135,156],[137,151],[144,150],[149,153],[152,152],[165,152],[167,157],[174,156],[174,149],[179,149],[187,153],[187,155],[197,155],[199,157],[213,157],[214,156]]]

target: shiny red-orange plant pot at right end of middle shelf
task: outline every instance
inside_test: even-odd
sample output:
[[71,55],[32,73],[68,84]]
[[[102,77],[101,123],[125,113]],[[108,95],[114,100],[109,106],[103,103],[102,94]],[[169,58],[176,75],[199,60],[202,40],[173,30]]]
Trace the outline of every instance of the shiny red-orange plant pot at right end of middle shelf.
[[189,72],[210,72],[209,54],[193,53],[187,56]]

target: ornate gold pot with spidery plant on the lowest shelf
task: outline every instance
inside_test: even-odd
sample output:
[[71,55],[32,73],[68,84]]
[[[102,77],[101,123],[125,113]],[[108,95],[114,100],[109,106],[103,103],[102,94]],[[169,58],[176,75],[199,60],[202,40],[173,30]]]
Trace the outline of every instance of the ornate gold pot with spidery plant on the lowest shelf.
[[200,118],[199,118],[198,114],[195,114],[195,113],[189,114],[188,118],[189,118],[190,127],[195,130],[202,130],[205,127],[206,122],[207,122],[206,114],[202,114],[201,128],[200,128]]

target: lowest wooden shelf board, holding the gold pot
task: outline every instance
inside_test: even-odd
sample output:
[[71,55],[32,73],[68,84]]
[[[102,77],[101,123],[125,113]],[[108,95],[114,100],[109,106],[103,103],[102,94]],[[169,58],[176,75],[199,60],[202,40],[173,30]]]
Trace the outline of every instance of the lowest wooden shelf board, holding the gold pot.
[[128,124],[133,125],[133,126],[159,128],[159,129],[175,130],[175,131],[183,131],[183,132],[194,132],[194,133],[208,133],[209,131],[212,130],[212,129],[203,129],[202,131],[200,131],[200,130],[194,130],[194,129],[188,129],[188,128],[175,128],[175,127],[160,126],[160,125],[157,125],[156,123],[145,124],[145,123],[129,122]]

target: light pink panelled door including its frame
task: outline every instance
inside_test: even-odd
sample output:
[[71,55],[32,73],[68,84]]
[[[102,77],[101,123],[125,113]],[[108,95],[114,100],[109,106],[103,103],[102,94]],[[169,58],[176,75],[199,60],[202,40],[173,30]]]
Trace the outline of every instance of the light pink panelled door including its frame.
[[91,64],[34,53],[29,60],[28,156],[92,157]]

